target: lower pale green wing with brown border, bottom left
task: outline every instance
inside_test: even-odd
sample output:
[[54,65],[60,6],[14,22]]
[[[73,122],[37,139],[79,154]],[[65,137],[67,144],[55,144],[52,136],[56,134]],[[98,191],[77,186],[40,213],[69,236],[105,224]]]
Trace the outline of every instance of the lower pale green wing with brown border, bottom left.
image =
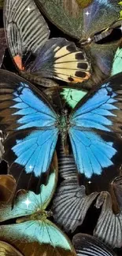
[[3,225],[0,238],[13,244],[24,256],[76,256],[65,234],[47,220]]

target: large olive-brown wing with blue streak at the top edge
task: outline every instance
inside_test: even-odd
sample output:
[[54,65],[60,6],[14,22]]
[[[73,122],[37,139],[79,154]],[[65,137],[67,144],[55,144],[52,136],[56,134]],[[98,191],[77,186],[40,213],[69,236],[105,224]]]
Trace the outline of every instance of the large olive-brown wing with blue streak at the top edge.
[[46,16],[63,32],[76,39],[101,31],[117,20],[118,0],[35,0]]

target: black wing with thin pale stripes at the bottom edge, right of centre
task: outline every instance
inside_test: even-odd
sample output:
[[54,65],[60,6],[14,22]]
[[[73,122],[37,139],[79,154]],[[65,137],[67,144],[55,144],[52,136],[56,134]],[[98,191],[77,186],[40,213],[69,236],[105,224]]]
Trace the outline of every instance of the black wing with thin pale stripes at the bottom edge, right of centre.
[[72,243],[76,248],[76,253],[78,256],[116,256],[116,254],[110,250],[109,247],[107,247],[99,239],[94,238],[94,236],[79,233],[73,237]]

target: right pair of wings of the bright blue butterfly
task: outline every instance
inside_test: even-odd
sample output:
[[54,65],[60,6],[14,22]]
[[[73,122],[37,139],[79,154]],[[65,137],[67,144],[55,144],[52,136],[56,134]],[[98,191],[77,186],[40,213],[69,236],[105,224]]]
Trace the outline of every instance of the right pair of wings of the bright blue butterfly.
[[[86,97],[70,117],[69,136],[79,174],[87,179],[118,169],[121,161],[122,74]],[[109,173],[108,172],[108,173]]]

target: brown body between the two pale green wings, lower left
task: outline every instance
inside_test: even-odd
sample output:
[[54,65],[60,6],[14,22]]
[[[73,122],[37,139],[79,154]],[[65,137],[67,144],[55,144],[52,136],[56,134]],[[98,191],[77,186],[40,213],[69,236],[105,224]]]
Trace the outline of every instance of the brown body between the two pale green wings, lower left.
[[17,223],[22,223],[25,221],[46,221],[47,217],[50,217],[50,212],[46,210],[37,210],[36,213],[32,213],[31,215],[20,217],[17,219]]

